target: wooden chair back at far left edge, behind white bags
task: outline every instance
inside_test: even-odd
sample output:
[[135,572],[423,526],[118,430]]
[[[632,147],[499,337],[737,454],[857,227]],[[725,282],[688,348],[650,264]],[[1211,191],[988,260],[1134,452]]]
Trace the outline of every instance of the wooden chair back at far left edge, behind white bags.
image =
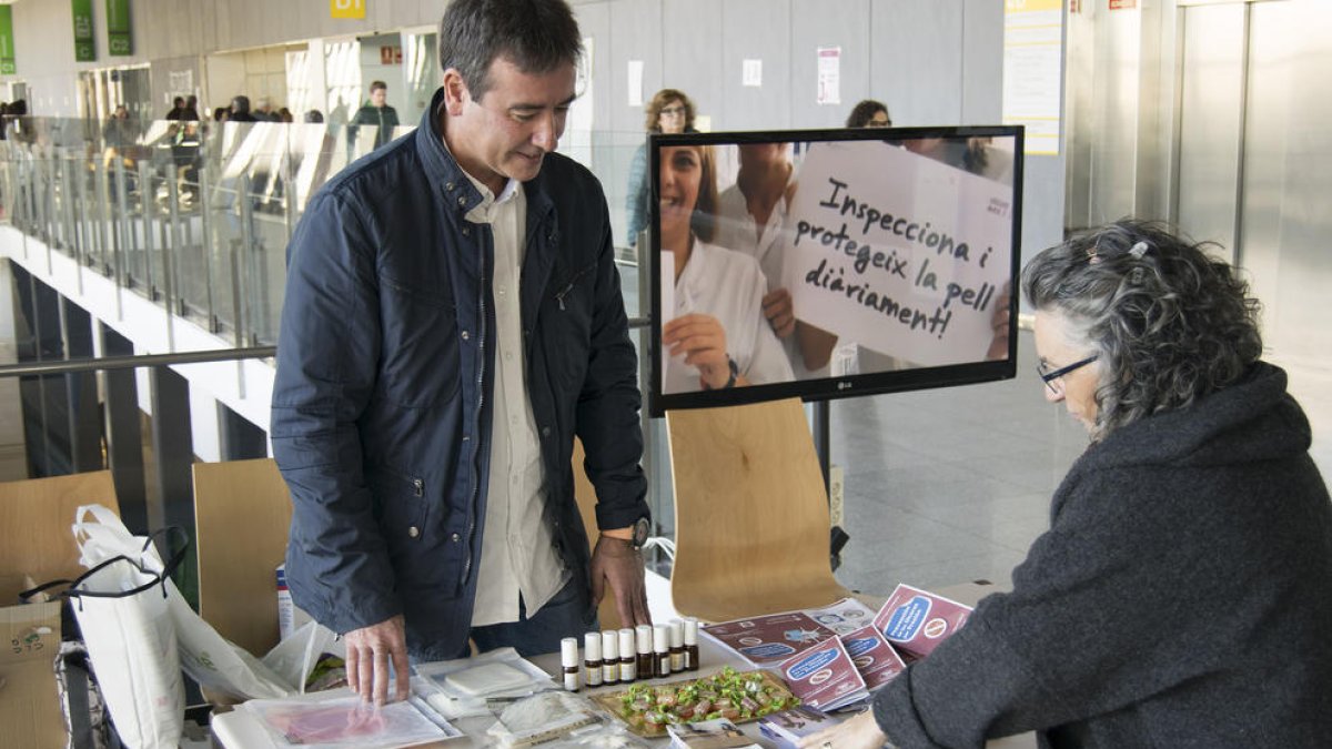
[[117,514],[109,470],[0,484],[0,606],[31,584],[73,580],[84,572],[75,544],[75,510],[100,504]]

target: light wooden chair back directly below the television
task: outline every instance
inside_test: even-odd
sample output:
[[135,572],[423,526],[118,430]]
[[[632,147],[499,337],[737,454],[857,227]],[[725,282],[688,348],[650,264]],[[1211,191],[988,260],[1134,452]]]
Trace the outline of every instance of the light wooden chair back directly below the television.
[[799,400],[666,414],[675,609],[705,621],[850,596],[829,560],[827,492]]

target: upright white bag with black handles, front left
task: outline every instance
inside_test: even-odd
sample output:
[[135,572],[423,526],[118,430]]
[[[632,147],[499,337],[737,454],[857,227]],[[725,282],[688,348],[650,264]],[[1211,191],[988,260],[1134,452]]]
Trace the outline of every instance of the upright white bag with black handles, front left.
[[185,721],[168,574],[170,568],[161,564],[119,556],[85,572],[69,589],[111,720],[131,749],[173,749]]

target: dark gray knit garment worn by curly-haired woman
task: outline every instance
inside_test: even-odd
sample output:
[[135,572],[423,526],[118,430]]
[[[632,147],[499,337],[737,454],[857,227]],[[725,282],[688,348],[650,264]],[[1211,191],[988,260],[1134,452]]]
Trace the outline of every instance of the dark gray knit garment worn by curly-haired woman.
[[874,702],[903,749],[1332,746],[1332,505],[1285,373],[1255,365],[1078,458],[1051,528]]

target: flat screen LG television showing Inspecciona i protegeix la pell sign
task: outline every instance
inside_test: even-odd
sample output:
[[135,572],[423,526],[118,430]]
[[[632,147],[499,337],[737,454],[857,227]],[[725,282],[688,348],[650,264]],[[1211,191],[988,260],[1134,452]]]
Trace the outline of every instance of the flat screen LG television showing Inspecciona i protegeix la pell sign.
[[1020,127],[647,148],[653,416],[1014,377]]

